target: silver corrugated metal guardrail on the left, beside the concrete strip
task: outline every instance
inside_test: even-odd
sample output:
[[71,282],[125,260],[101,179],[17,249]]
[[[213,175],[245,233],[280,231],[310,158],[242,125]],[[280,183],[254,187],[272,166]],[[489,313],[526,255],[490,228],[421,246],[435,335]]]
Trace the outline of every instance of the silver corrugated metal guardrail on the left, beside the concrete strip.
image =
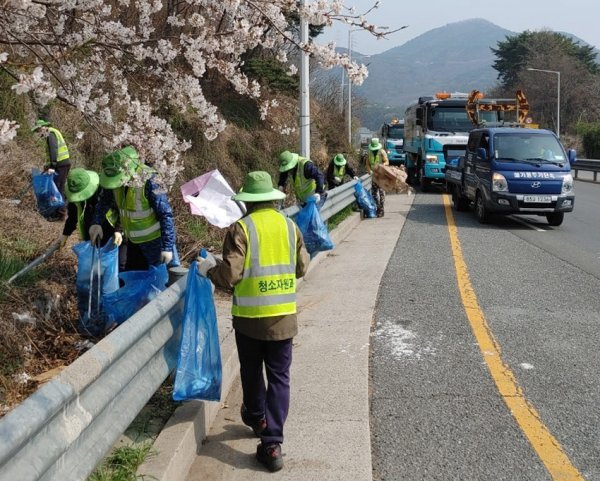
[[[361,182],[367,188],[371,177]],[[329,191],[323,220],[354,202],[354,184]],[[176,367],[186,282],[187,275],[0,419],[0,481],[83,480],[95,469]]]

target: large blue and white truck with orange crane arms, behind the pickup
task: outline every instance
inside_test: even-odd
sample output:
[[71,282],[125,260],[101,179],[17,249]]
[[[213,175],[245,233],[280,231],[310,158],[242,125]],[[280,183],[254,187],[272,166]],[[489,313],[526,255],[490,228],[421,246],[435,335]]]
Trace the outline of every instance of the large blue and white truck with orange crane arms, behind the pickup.
[[446,162],[464,155],[469,132],[481,125],[503,125],[505,113],[524,123],[529,105],[519,90],[515,98],[486,99],[478,90],[466,93],[438,92],[420,97],[404,113],[404,151],[411,184],[444,183]]

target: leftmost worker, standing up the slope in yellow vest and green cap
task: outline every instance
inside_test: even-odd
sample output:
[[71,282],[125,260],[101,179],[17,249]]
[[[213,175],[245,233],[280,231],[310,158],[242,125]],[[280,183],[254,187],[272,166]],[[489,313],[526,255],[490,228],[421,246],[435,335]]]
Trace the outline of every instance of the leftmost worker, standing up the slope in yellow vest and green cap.
[[[62,133],[53,127],[50,122],[43,119],[38,119],[35,125],[31,128],[32,132],[35,132],[41,139],[45,139],[46,143],[46,163],[44,165],[44,171],[48,175],[53,175],[56,172],[56,178],[54,183],[56,188],[60,192],[60,195],[65,197],[65,182],[71,169],[71,160],[69,155],[69,148],[62,135]],[[66,203],[65,203],[66,204]],[[66,205],[58,209],[56,219],[51,220],[64,220],[67,216]]]

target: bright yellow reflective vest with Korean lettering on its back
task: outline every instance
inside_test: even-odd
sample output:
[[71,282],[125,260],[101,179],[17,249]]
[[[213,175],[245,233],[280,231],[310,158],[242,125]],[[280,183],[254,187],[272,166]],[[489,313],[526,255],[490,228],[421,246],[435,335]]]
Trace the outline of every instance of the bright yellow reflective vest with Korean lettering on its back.
[[265,208],[238,220],[248,248],[244,273],[233,289],[231,313],[273,317],[296,313],[296,227]]

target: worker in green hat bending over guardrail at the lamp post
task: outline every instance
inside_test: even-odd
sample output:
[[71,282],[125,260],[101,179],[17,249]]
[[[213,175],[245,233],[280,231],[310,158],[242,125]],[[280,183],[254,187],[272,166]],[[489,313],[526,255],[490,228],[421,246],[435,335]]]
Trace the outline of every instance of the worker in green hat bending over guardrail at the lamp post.
[[[285,150],[279,155],[279,190],[285,192],[288,179],[291,179],[294,193],[300,204],[305,204],[310,196],[315,197],[316,204],[325,201],[325,176],[321,169],[310,159]],[[321,198],[322,197],[322,198]]]

